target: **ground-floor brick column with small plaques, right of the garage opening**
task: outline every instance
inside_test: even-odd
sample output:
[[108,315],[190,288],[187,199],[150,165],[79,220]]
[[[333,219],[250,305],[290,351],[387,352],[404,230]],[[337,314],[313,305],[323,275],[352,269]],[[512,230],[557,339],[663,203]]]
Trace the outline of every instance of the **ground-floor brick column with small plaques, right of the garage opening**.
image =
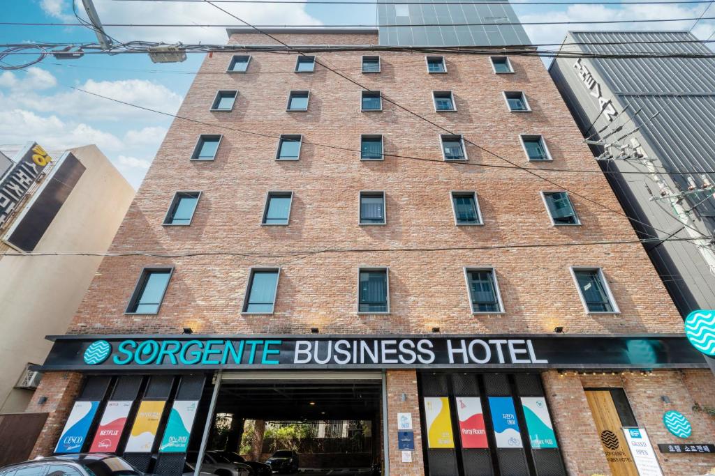
[[[420,424],[420,398],[417,393],[417,372],[415,370],[388,370],[388,447],[391,476],[423,476],[425,465],[422,457],[422,426]],[[403,393],[405,401],[403,402]],[[398,450],[398,413],[412,413],[415,431],[415,451],[412,462],[402,462],[402,452]]]

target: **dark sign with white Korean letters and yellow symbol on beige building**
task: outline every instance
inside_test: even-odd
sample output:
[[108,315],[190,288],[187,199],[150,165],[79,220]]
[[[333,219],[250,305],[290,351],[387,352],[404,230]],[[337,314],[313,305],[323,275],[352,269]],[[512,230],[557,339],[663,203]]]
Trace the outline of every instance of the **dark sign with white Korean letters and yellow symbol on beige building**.
[[49,154],[32,143],[20,160],[5,175],[0,182],[0,226],[2,226],[15,211],[18,203],[27,195],[30,187],[39,178],[40,173],[52,161]]

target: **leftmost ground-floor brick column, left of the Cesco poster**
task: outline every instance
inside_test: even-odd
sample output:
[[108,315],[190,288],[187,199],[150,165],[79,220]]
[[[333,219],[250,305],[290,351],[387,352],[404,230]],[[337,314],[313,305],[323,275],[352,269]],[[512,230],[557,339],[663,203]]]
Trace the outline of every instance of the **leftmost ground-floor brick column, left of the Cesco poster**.
[[[31,458],[52,454],[81,385],[81,373],[47,372],[42,375],[26,412],[49,415],[30,453]],[[46,397],[46,402],[40,403],[41,397]]]

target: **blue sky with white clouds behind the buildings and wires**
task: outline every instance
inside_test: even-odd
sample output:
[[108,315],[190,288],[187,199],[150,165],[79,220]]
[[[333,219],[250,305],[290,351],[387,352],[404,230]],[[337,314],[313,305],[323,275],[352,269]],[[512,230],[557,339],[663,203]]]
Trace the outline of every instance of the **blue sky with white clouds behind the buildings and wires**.
[[[100,18],[108,23],[232,24],[227,14],[208,4],[94,0]],[[220,4],[255,24],[374,24],[369,5]],[[515,6],[521,21],[597,21],[697,17],[706,4]],[[84,14],[82,2],[79,11]],[[707,16],[715,16],[715,8]],[[3,21],[75,23],[71,0],[11,0],[4,2]],[[693,22],[638,24],[630,29],[690,29]],[[604,25],[576,25],[570,29],[606,29]],[[612,29],[624,29],[623,25]],[[694,34],[705,39],[715,28],[701,21]],[[536,44],[560,43],[568,26],[528,26]],[[224,44],[221,28],[107,28],[120,41],[182,41]],[[0,43],[94,42],[94,32],[82,27],[0,26]],[[152,64],[147,55],[85,55],[57,61],[51,56],[24,71],[0,73],[0,150],[16,151],[26,141],[38,141],[50,151],[97,143],[135,188],[147,171],[171,121],[166,116],[122,106],[66,88],[79,86],[104,96],[177,111],[199,69],[202,54],[190,54],[176,64]],[[5,61],[22,62],[29,56]]]

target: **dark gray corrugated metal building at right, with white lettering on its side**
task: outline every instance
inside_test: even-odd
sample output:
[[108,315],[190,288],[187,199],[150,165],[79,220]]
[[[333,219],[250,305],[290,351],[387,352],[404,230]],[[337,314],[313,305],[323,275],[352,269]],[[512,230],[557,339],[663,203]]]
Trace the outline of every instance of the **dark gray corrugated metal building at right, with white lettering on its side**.
[[[561,51],[651,55],[561,57],[549,71],[583,135],[607,144],[594,154],[613,156],[601,166],[639,236],[712,236],[715,59],[678,57],[712,52],[683,31],[571,31]],[[681,314],[715,308],[710,240],[644,245]]]

